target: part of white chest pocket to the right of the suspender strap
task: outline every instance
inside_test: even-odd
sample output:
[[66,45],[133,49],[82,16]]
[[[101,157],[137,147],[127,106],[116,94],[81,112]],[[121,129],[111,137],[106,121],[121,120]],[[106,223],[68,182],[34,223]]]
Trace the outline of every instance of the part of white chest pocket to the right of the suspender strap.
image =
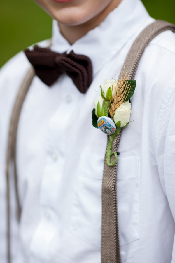
[[140,158],[118,158],[117,196],[120,245],[139,239]]

